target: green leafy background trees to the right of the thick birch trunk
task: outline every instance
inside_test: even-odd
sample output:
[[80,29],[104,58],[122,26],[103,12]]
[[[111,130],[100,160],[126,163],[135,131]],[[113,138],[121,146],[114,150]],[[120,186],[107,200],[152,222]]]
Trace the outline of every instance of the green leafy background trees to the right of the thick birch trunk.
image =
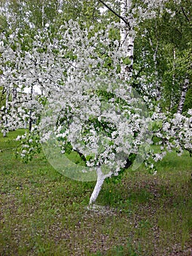
[[[185,97],[182,95],[191,86],[190,14],[191,6],[188,1],[181,1],[180,4],[167,1],[166,9],[161,16],[146,20],[139,26],[135,39],[135,86],[142,91],[144,83],[143,93],[147,93],[145,88],[148,87],[153,91],[152,94],[148,93],[149,97],[153,95],[153,99],[157,99],[155,83],[158,84],[162,94],[161,107],[164,110],[171,108],[172,112],[177,111],[179,102],[183,105]],[[155,53],[157,47],[158,51]],[[154,57],[155,62],[152,61]],[[156,77],[152,71],[154,68],[158,72]],[[144,80],[141,80],[141,75]],[[186,80],[188,83],[185,83]]]

